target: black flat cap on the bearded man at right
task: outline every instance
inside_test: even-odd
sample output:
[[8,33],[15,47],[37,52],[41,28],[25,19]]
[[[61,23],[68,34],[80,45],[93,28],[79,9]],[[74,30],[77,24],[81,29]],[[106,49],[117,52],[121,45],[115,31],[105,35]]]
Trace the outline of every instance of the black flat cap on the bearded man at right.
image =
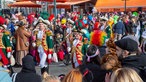
[[123,50],[127,50],[129,52],[134,52],[138,50],[138,44],[136,41],[130,38],[124,38],[115,42],[116,46],[120,47]]

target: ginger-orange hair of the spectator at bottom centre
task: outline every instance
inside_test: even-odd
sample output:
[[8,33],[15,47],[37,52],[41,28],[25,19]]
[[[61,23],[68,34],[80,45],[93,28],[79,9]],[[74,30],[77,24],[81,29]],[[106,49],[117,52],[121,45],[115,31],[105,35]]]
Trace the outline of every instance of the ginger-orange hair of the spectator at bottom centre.
[[72,69],[63,79],[62,82],[82,82],[82,73],[78,68]]

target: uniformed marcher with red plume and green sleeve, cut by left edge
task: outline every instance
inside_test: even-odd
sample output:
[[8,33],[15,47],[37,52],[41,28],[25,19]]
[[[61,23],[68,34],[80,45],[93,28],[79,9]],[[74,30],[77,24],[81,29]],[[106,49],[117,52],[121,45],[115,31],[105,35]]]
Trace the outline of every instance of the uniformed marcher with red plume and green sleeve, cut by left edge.
[[12,47],[10,44],[9,32],[5,30],[3,24],[5,19],[0,16],[0,57],[4,66],[10,64],[9,58],[11,56]]

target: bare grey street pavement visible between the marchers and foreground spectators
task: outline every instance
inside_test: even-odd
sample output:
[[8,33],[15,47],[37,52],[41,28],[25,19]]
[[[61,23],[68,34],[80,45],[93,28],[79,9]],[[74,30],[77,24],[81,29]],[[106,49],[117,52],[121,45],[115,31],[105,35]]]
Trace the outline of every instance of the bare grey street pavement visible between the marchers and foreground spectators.
[[[37,74],[41,75],[41,69],[39,66],[36,66],[36,71]],[[60,74],[67,74],[70,70],[72,69],[71,64],[68,66],[65,66],[63,62],[58,62],[58,63],[52,63],[49,65],[49,74],[50,75],[60,75]],[[13,67],[14,72],[20,72],[21,67]]]

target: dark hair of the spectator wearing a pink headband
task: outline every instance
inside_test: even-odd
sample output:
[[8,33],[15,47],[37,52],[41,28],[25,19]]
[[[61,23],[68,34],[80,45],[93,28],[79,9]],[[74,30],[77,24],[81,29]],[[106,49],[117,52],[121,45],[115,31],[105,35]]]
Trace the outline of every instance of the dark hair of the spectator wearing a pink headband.
[[[90,45],[87,49],[87,55],[88,56],[92,56],[96,53],[98,47],[96,45]],[[101,59],[99,57],[99,54],[93,58],[90,58],[90,62],[87,62],[87,57],[86,57],[86,60],[85,60],[86,63],[95,63],[97,65],[100,65],[101,64]]]

